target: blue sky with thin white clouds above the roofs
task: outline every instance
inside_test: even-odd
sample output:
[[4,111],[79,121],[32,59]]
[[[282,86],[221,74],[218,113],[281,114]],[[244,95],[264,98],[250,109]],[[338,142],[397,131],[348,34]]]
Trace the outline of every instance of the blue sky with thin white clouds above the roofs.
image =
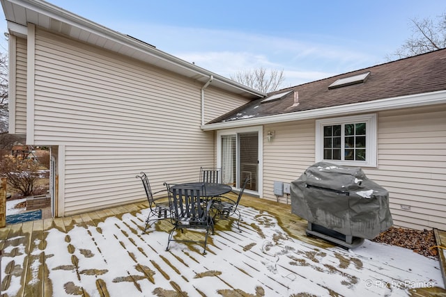
[[284,70],[283,87],[385,63],[412,34],[410,19],[446,13],[444,0],[49,3],[225,77]]

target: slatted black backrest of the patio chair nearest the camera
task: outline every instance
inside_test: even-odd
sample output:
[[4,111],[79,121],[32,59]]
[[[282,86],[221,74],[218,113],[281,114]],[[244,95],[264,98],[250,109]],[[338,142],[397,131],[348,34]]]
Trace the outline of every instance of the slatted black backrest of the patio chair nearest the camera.
[[204,184],[171,186],[169,191],[171,218],[175,221],[206,223],[208,214],[201,203],[203,195],[205,195]]

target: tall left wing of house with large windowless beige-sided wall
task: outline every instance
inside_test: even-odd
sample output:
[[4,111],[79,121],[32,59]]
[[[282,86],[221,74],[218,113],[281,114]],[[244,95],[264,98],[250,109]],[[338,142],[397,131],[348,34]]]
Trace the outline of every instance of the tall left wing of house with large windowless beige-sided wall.
[[1,1],[10,130],[51,148],[54,216],[141,201],[215,165],[203,123],[264,94],[45,1]]

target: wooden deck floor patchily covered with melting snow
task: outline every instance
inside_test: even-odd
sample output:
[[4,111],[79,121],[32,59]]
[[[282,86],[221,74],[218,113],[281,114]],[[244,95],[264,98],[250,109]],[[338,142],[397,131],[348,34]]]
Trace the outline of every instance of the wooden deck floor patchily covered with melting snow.
[[206,255],[176,242],[165,251],[167,221],[143,234],[146,203],[7,225],[1,296],[446,294],[436,259],[367,240],[343,250],[305,236],[289,206],[248,195],[241,203],[243,232],[217,223]]

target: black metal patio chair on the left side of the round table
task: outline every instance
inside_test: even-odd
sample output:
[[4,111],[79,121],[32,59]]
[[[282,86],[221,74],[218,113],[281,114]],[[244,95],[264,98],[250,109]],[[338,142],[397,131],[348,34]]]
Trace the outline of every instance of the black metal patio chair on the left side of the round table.
[[[147,201],[148,201],[148,207],[150,211],[148,212],[148,216],[146,219],[146,227],[144,228],[144,232],[147,231],[147,229],[155,223],[157,220],[164,220],[166,218],[169,218],[170,216],[170,207],[169,202],[157,202],[155,199],[153,199],[153,195],[157,193],[161,193],[166,191],[166,189],[163,189],[161,191],[152,192],[151,184],[148,182],[148,177],[146,173],[141,172],[140,175],[136,176],[141,179],[141,182],[144,186],[144,191],[146,191]],[[150,223],[150,224],[149,224]]]

